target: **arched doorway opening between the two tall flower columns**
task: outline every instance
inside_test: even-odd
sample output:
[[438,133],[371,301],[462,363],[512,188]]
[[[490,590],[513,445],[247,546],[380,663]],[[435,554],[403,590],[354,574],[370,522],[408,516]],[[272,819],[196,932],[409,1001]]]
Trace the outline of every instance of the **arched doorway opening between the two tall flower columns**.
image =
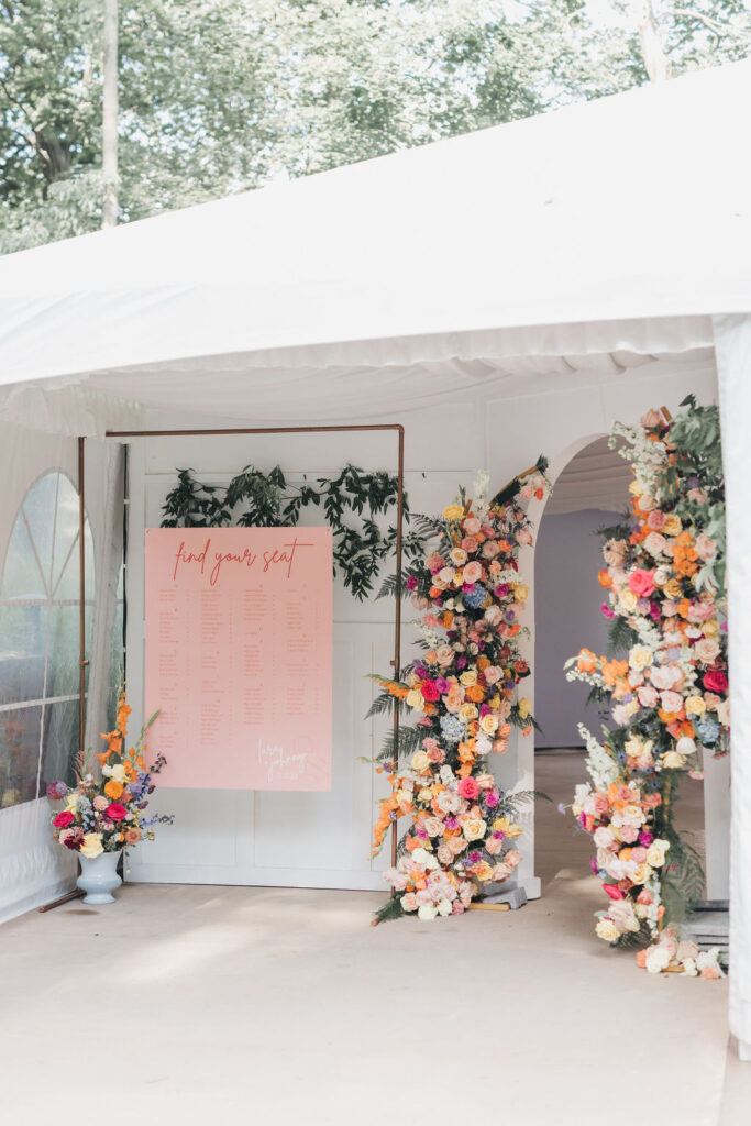
[[[599,735],[602,722],[589,688],[570,682],[565,661],[583,646],[608,651],[608,620],[600,610],[598,571],[604,565],[598,530],[620,522],[628,507],[628,464],[605,436],[588,439],[558,459],[552,498],[539,517],[535,548],[535,738],[536,787],[553,798],[538,807],[536,869],[545,886],[562,872],[585,877],[591,839],[579,832],[570,813],[578,783],[588,780],[583,723]],[[679,828],[692,833],[705,852],[705,790],[687,781],[681,789]],[[722,832],[722,826],[719,826]]]

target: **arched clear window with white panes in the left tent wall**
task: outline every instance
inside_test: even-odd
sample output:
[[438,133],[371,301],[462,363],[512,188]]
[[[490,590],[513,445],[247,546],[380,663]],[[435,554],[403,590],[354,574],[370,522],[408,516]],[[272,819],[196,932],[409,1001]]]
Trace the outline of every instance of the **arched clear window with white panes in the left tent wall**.
[[[93,545],[86,521],[90,636]],[[20,507],[0,586],[0,805],[72,780],[79,743],[79,498],[64,473],[39,477]]]

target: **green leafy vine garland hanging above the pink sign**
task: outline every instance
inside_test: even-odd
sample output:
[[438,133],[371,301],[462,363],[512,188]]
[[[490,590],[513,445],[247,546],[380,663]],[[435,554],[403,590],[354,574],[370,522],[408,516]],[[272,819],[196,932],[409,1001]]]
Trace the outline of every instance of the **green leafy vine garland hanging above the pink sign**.
[[[399,481],[383,470],[366,473],[346,465],[338,476],[287,481],[278,465],[263,473],[245,465],[227,485],[206,484],[194,470],[178,470],[178,482],[162,506],[162,528],[294,527],[304,509],[322,510],[333,531],[334,574],[359,601],[373,592],[374,582],[396,547],[396,527],[383,527],[383,517],[396,508]],[[406,561],[424,554],[420,525],[410,527],[406,493],[403,495],[406,534],[402,551]],[[392,579],[392,593],[396,580]]]

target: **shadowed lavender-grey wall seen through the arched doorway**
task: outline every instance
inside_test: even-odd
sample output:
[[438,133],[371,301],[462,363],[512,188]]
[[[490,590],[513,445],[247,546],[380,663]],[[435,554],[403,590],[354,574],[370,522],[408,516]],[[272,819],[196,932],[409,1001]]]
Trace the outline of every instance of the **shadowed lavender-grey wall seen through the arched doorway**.
[[616,512],[588,508],[546,515],[540,521],[535,552],[535,718],[543,730],[536,733],[536,748],[581,747],[576,725],[583,722],[597,730],[597,708],[585,708],[589,686],[567,681],[563,665],[583,646],[607,652],[608,622],[599,609],[602,588],[597,581],[604,566],[601,540],[594,533],[617,518]]

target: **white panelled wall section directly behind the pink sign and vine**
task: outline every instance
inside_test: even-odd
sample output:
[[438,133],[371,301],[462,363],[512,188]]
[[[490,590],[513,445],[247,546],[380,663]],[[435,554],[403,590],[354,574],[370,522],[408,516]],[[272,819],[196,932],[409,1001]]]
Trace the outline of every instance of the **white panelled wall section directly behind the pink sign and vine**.
[[[390,417],[383,421],[402,421]],[[169,425],[169,423],[168,423]],[[172,423],[176,425],[176,423]],[[211,423],[209,423],[211,425]],[[473,404],[436,408],[406,420],[405,486],[413,511],[435,512],[468,485],[484,459],[482,421]],[[193,466],[203,481],[226,483],[244,465],[281,465],[290,480],[337,474],[347,463],[395,471],[395,431],[295,436],[140,439],[129,457],[127,679],[137,718],[143,687],[143,529],[160,524],[176,467]],[[305,513],[307,522],[316,518]],[[322,520],[322,515],[319,517]],[[415,616],[406,607],[406,622]],[[394,606],[357,602],[334,586],[334,748],[330,794],[177,790],[159,793],[159,806],[176,813],[152,844],[138,847],[129,878],[196,883],[275,884],[384,888],[388,857],[372,861],[376,799],[383,779],[357,761],[372,757],[387,726],[364,722],[374,695],[370,672],[388,674]],[[402,661],[413,654],[409,625]],[[207,769],[209,767],[207,766]]]

